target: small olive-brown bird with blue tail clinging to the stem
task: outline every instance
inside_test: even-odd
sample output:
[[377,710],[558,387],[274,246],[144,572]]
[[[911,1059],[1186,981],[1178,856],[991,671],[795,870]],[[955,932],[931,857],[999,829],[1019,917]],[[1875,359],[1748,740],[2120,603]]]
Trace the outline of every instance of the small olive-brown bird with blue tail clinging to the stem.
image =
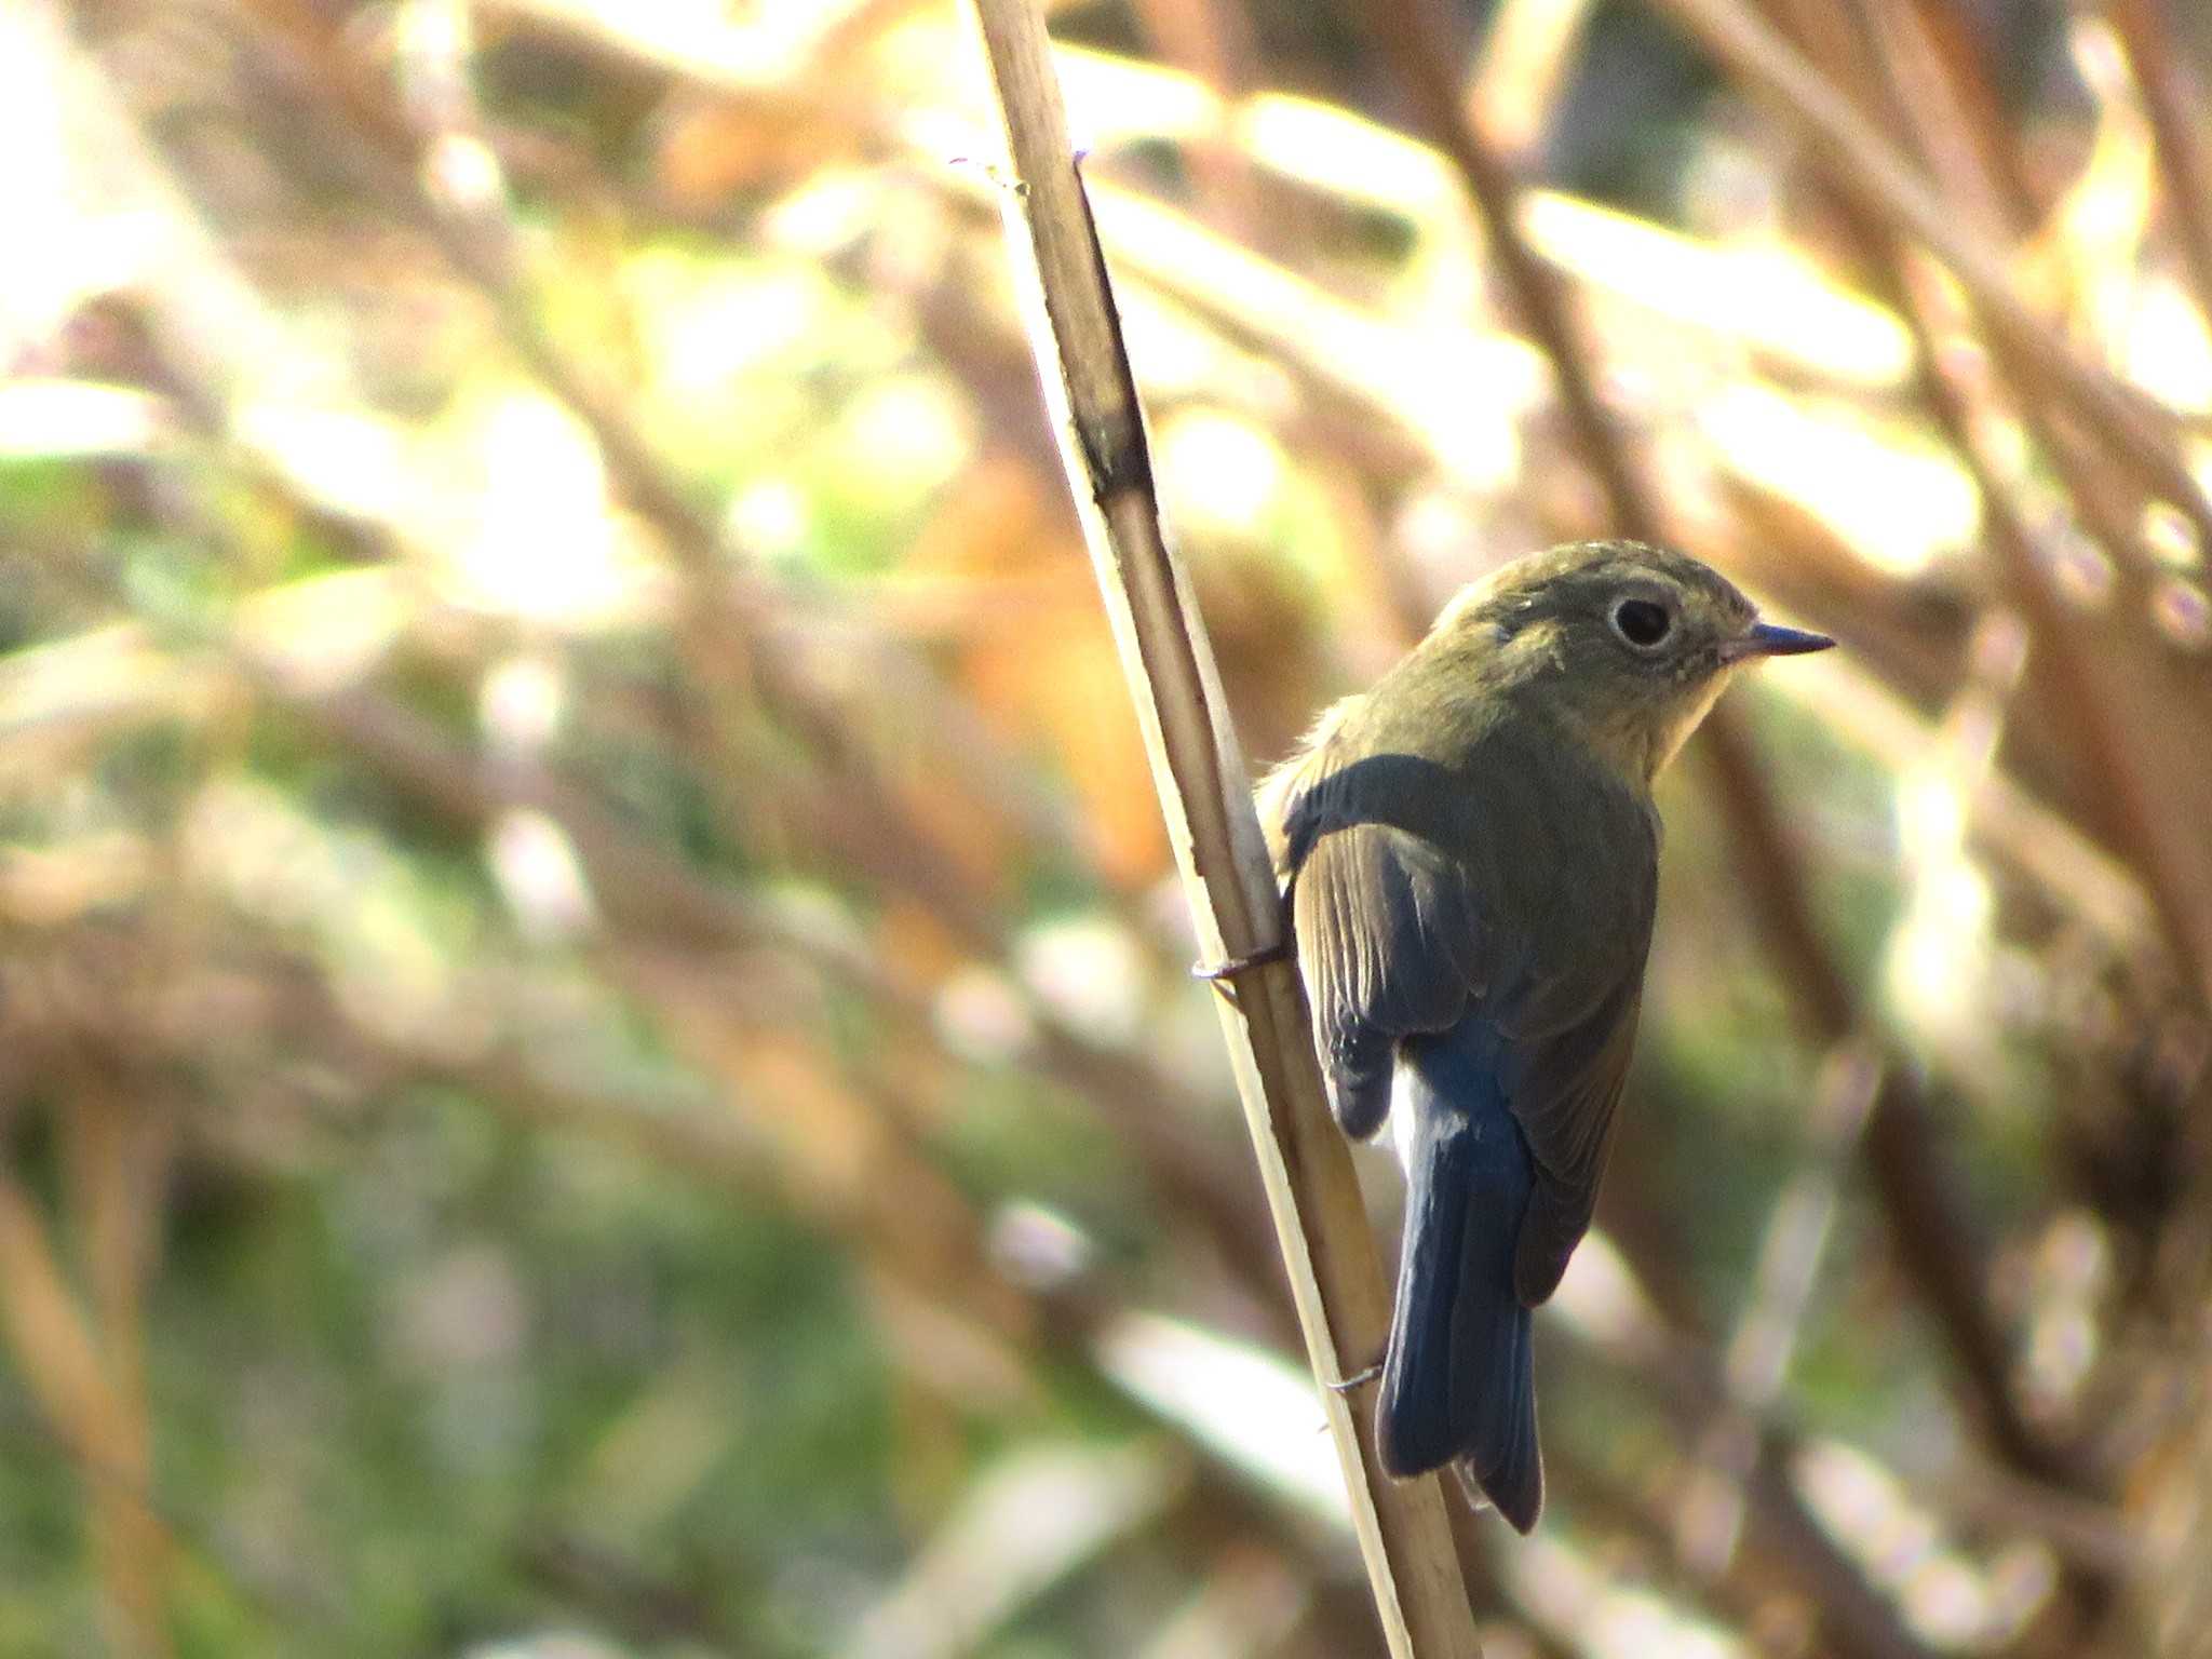
[[1590,1225],[1659,876],[1652,781],[1761,657],[1710,566],[1577,542],[1467,586],[1259,787],[1329,1108],[1407,1172],[1383,1467],[1544,1506],[1528,1314]]

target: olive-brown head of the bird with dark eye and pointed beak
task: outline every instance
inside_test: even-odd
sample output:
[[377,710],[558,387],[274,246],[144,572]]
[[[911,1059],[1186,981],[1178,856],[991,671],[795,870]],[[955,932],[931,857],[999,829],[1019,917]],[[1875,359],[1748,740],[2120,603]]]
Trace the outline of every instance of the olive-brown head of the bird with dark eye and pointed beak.
[[1644,542],[1575,542],[1517,560],[1453,599],[1433,637],[1480,653],[1502,695],[1559,719],[1641,783],[1697,730],[1734,668],[1836,644],[1761,622],[1719,571]]

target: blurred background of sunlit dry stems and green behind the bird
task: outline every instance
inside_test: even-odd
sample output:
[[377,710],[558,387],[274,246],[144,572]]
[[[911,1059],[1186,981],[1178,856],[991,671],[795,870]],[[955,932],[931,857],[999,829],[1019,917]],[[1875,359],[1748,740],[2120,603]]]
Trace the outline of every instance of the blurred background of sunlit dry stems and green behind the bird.
[[[1053,29],[1254,765],[1555,540],[1845,644],[1486,1650],[2212,1650],[2208,13]],[[991,155],[940,0],[0,7],[0,1652],[1380,1650]]]

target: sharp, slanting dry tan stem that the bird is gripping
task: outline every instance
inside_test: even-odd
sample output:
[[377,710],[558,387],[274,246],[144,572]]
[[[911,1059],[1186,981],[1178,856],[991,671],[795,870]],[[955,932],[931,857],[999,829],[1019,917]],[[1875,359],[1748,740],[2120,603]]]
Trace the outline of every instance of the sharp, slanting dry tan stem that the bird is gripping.
[[[1161,538],[1144,416],[1044,20],[1029,0],[978,0],[975,18],[1018,179],[1004,199],[1015,279],[1199,945],[1214,960],[1256,958],[1283,945],[1281,900],[1212,650]],[[1323,1106],[1296,969],[1272,960],[1241,973],[1221,1022],[1307,1354],[1334,1383],[1380,1354],[1389,1292],[1352,1157]],[[1398,1659],[1475,1655],[1442,1493],[1436,1480],[1383,1473],[1371,1422],[1354,1411],[1365,1398],[1365,1387],[1323,1389],[1385,1639]]]

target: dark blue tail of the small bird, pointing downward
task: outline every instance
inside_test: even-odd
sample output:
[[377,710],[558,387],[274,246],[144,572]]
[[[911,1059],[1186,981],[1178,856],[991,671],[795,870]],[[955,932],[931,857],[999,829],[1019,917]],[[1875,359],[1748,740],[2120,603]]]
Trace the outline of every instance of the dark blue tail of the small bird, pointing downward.
[[1398,1310],[1383,1367],[1383,1467],[1458,1464],[1526,1533],[1544,1506],[1528,1310],[1513,1294],[1513,1241],[1535,1181],[1473,1020],[1405,1044],[1411,1113]]

